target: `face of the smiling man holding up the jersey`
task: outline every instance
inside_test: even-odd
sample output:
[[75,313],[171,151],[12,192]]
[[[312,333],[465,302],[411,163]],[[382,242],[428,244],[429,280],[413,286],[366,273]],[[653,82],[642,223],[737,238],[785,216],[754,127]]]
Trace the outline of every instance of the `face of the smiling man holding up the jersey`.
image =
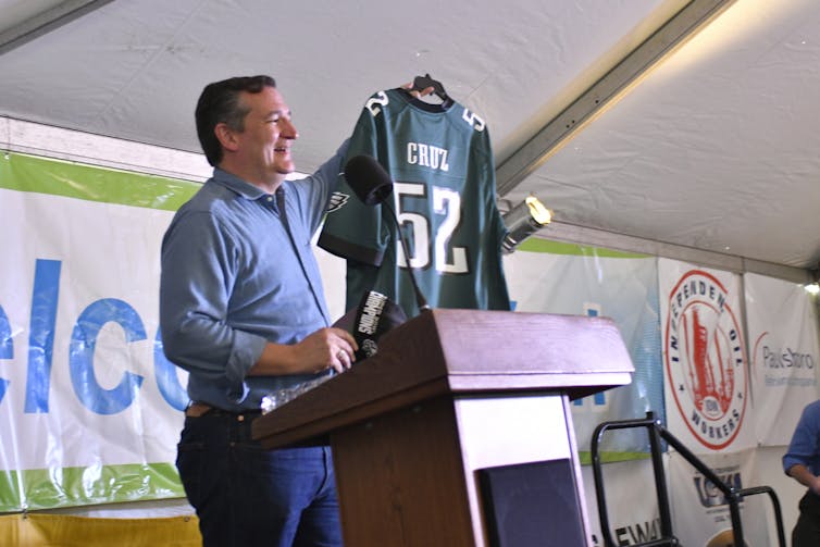
[[258,94],[243,92],[240,100],[250,109],[245,116],[245,130],[236,134],[247,167],[265,182],[291,173],[296,165],[290,144],[299,134],[290,122],[285,99],[276,88],[265,87]]

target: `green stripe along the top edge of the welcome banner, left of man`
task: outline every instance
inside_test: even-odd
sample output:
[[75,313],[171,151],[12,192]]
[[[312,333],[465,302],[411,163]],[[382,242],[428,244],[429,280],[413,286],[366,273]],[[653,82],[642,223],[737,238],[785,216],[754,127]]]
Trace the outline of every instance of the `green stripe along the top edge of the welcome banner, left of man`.
[[190,181],[36,156],[0,157],[0,188],[10,190],[176,211],[200,186]]

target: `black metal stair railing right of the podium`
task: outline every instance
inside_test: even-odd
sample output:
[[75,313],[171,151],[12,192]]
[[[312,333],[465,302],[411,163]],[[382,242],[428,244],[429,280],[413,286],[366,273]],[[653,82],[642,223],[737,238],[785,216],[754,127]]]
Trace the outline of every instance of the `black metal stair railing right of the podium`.
[[732,534],[734,545],[746,545],[743,539],[743,522],[741,521],[740,502],[746,496],[756,494],[768,494],[774,509],[774,520],[778,525],[778,539],[780,547],[786,547],[785,532],[783,531],[783,515],[780,509],[780,500],[774,490],[769,486],[754,486],[750,488],[736,489],[729,486],[712,470],[710,470],[697,456],[678,440],[678,438],[663,427],[660,420],[655,418],[654,412],[647,412],[643,420],[620,420],[600,423],[593,433],[592,439],[592,459],[593,475],[595,478],[595,495],[598,498],[598,518],[600,520],[600,532],[604,536],[605,547],[614,547],[616,542],[609,526],[609,515],[607,513],[607,498],[604,492],[604,476],[600,462],[600,452],[598,445],[605,432],[610,430],[625,430],[634,427],[645,427],[649,435],[649,448],[651,455],[653,470],[655,472],[655,493],[658,497],[658,511],[660,513],[660,534],[659,539],[638,544],[641,547],[661,547],[679,546],[680,540],[672,532],[672,517],[669,510],[669,492],[667,490],[667,480],[663,471],[661,440],[666,440],[669,446],[674,448],[692,467],[700,472],[723,494],[729,504],[729,512],[732,520]]

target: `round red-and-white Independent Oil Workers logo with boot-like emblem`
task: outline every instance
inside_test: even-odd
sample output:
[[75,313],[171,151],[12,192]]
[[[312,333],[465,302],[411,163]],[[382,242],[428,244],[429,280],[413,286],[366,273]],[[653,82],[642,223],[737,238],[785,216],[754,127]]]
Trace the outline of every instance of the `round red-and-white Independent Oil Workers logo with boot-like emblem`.
[[706,272],[684,274],[669,297],[666,366],[686,426],[707,448],[737,436],[746,411],[746,351],[726,289]]

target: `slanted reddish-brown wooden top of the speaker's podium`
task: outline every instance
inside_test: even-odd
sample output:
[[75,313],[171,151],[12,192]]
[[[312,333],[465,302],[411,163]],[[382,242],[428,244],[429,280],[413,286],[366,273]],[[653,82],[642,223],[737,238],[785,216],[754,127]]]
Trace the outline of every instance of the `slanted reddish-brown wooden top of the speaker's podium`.
[[634,372],[607,318],[435,309],[385,334],[378,352],[253,423],[268,448],[451,394],[584,397]]

